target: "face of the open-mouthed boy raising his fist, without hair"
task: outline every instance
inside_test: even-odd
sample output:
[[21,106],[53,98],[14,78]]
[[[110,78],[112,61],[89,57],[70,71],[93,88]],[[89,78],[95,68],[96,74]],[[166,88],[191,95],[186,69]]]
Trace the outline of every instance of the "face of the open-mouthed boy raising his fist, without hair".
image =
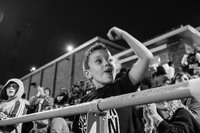
[[89,79],[99,87],[111,83],[116,75],[115,64],[111,54],[107,50],[95,50],[88,61]]

